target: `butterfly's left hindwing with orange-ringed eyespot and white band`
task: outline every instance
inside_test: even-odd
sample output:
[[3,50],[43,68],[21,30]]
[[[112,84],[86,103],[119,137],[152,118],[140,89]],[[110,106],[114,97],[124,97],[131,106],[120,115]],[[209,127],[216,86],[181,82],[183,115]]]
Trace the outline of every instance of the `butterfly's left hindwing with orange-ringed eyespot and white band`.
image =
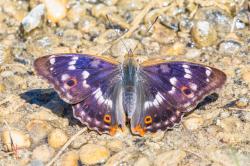
[[73,105],[74,117],[90,129],[113,135],[126,121],[124,111],[119,107],[121,90],[120,82],[108,88],[101,86],[88,98]]

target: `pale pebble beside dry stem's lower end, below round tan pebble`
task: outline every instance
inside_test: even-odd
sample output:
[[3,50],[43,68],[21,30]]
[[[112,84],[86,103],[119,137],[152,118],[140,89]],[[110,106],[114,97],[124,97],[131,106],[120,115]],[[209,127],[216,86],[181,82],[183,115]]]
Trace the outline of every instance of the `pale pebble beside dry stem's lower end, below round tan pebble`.
[[32,152],[33,160],[48,162],[55,154],[55,150],[48,145],[37,146]]

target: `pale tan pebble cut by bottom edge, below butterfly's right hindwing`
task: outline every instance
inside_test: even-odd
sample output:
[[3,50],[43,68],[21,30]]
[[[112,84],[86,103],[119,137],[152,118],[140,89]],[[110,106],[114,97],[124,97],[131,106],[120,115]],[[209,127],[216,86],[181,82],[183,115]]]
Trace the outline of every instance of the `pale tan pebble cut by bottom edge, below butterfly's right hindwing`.
[[157,155],[154,165],[179,165],[180,162],[186,157],[186,152],[182,150],[170,150]]

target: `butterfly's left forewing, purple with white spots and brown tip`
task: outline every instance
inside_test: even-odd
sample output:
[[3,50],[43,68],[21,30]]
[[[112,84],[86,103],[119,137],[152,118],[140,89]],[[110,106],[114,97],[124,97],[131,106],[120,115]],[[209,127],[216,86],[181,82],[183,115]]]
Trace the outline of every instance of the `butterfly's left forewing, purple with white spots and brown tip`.
[[60,54],[38,58],[35,69],[51,83],[60,97],[75,104],[92,94],[99,85],[108,86],[119,75],[116,64],[83,54]]

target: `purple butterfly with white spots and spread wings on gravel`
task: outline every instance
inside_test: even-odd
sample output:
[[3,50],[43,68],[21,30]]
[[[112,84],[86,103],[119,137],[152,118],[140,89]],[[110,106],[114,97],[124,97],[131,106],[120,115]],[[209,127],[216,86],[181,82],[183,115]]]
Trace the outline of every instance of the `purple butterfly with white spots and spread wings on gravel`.
[[172,128],[226,81],[213,67],[161,59],[138,63],[132,56],[119,63],[105,56],[57,54],[36,59],[34,68],[72,105],[76,119],[110,135],[126,122],[140,136]]

